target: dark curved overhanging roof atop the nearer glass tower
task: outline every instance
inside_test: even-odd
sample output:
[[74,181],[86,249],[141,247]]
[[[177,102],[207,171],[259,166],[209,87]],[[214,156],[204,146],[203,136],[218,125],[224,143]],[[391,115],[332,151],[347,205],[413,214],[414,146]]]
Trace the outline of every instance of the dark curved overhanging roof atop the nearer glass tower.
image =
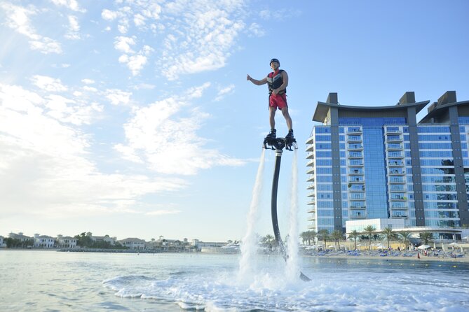
[[316,109],[314,111],[313,121],[324,122],[327,116],[327,112],[332,107],[339,108],[339,111],[352,111],[360,114],[374,113],[374,117],[376,117],[376,114],[382,114],[383,117],[388,117],[388,112],[390,111],[392,111],[393,113],[397,111],[402,111],[403,113],[406,113],[406,115],[402,115],[403,117],[405,117],[407,116],[407,108],[415,106],[416,113],[419,113],[428,103],[430,103],[430,101],[421,101],[410,104],[398,104],[393,106],[347,106],[318,101],[318,106],[316,106]]

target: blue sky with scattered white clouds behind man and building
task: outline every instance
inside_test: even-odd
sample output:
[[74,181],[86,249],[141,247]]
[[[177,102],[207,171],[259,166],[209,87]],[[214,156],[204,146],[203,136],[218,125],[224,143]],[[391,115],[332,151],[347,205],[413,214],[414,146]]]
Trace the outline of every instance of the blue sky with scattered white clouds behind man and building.
[[[242,239],[270,128],[267,87],[246,76],[266,77],[273,57],[289,76],[306,231],[318,101],[469,100],[468,13],[465,0],[1,0],[0,235]],[[276,128],[287,134],[280,112]],[[293,157],[280,170],[283,234]]]

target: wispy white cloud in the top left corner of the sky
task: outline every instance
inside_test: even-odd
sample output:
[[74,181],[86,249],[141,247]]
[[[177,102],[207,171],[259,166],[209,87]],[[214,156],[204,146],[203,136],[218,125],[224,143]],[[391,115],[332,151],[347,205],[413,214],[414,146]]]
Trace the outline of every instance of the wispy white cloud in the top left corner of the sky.
[[44,54],[62,53],[60,43],[46,36],[36,34],[36,30],[29,21],[29,15],[36,14],[34,6],[24,8],[11,3],[0,3],[0,8],[5,11],[6,25],[19,34],[27,36],[27,38],[29,38],[29,46],[32,50],[39,50],[39,52]]

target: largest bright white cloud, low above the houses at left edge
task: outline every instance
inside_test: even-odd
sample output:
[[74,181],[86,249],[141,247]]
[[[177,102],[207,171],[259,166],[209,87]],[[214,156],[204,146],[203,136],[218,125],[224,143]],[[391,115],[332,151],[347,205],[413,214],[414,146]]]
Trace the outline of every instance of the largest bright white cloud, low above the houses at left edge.
[[[102,173],[90,138],[57,121],[80,112],[66,97],[42,97],[0,83],[0,207],[13,214],[74,218],[139,211],[145,194],[179,190],[175,178]],[[93,104],[91,105],[93,106]],[[53,112],[53,113],[51,113]]]

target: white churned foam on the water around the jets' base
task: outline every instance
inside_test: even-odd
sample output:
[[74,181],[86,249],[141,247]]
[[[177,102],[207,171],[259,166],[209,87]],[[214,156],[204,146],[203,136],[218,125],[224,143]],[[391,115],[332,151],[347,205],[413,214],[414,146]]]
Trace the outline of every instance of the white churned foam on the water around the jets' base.
[[211,270],[191,271],[165,279],[119,276],[103,284],[119,297],[174,302],[188,310],[469,311],[469,278],[461,276],[461,271],[322,268],[309,283],[283,283],[276,273],[276,262],[268,257],[263,261],[267,269],[253,276],[257,283],[249,288],[237,281],[234,267],[215,275]]

